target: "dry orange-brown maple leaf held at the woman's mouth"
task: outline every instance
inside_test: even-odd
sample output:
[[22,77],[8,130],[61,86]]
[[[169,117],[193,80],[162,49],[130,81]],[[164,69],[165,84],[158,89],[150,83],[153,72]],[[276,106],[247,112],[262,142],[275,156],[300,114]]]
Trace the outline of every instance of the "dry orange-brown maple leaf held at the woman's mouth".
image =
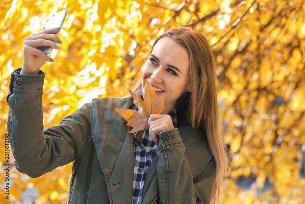
[[[128,88],[127,88],[128,89]],[[127,125],[132,127],[132,130],[128,133],[138,132],[144,130],[148,123],[149,116],[151,114],[159,114],[164,107],[164,94],[159,98],[153,90],[152,86],[145,80],[145,94],[144,101],[140,96],[128,89],[132,98],[135,99],[135,105],[139,110],[130,109],[117,109],[115,110],[127,121]]]

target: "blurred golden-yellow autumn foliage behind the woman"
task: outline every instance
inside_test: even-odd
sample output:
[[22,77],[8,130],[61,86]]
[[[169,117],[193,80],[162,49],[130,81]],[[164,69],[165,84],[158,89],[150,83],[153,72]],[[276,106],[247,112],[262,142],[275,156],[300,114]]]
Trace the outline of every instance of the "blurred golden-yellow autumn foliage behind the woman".
[[14,168],[4,199],[10,74],[23,42],[48,17],[68,15],[46,62],[44,126],[95,97],[120,97],[141,74],[156,37],[191,25],[209,40],[221,84],[228,173],[221,203],[305,203],[304,0],[3,0],[0,2],[0,200],[67,203],[72,163],[33,179]]

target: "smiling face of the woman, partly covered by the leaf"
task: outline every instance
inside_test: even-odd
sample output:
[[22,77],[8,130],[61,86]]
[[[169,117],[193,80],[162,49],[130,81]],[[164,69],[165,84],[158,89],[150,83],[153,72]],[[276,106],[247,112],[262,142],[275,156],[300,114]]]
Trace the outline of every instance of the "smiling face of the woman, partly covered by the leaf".
[[145,79],[155,89],[158,97],[165,93],[164,106],[169,108],[185,92],[190,91],[190,69],[188,52],[163,37],[155,44],[142,70],[142,90]]

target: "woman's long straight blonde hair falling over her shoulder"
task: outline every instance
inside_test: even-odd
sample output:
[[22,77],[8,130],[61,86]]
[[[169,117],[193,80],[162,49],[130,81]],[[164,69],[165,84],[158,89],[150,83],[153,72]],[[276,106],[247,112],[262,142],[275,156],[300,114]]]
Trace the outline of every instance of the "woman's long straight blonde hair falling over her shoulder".
[[[191,94],[188,97],[187,120],[192,128],[202,128],[206,131],[210,149],[216,161],[216,175],[210,203],[218,203],[221,196],[221,186],[228,167],[227,148],[224,144],[221,127],[221,114],[218,94],[219,82],[216,75],[216,62],[213,51],[205,36],[193,30],[192,27],[170,29],[160,35],[152,45],[163,37],[169,37],[188,51],[191,73]],[[131,91],[142,96],[141,77]],[[128,93],[121,98],[129,98]]]

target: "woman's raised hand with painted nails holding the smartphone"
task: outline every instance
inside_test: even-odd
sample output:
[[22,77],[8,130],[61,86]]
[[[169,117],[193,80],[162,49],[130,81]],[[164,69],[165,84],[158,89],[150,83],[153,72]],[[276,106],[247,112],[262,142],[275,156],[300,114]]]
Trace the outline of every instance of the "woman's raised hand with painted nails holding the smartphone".
[[[37,49],[39,46],[51,46],[53,49],[60,49],[56,43],[63,43],[57,35],[60,28],[43,28],[41,32],[33,33],[27,37],[23,43],[23,65],[20,74],[38,74],[39,69],[46,61],[54,61],[51,57],[43,51]],[[53,40],[53,41],[51,41]],[[57,46],[57,47],[56,47]],[[38,57],[35,57],[38,56]]]

